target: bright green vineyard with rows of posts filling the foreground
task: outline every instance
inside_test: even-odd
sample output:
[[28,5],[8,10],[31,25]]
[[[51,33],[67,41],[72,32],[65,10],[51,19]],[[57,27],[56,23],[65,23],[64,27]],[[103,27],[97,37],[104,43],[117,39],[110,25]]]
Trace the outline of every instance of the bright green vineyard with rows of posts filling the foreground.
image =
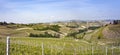
[[[10,55],[119,55],[120,46],[104,46],[84,40],[58,38],[10,38]],[[0,55],[6,55],[6,39],[0,41]]]

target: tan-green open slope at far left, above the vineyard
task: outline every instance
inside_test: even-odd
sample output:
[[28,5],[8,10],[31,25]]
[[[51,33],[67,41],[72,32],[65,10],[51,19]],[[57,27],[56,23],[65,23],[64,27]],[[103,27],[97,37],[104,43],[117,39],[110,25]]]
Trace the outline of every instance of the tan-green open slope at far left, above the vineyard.
[[[10,26],[10,25],[8,25]],[[30,33],[42,33],[37,30],[33,30],[30,27],[22,27],[22,28],[14,28],[12,25],[10,27],[8,26],[0,26],[0,37],[6,37],[6,36],[11,36],[11,37],[28,37]],[[36,26],[35,26],[36,27]]]

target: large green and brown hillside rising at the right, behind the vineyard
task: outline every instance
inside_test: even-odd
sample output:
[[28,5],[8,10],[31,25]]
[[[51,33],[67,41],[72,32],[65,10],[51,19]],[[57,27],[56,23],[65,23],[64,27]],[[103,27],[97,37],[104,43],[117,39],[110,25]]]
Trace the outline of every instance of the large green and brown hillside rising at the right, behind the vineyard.
[[94,32],[86,34],[84,39],[100,45],[120,43],[120,24],[101,27]]

